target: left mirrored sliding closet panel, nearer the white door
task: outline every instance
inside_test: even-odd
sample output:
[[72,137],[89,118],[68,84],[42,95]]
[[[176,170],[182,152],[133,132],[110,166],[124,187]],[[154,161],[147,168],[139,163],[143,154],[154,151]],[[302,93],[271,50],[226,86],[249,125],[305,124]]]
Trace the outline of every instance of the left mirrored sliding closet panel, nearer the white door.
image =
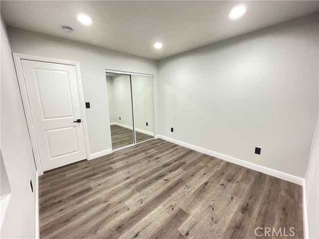
[[134,144],[130,75],[106,73],[112,148]]

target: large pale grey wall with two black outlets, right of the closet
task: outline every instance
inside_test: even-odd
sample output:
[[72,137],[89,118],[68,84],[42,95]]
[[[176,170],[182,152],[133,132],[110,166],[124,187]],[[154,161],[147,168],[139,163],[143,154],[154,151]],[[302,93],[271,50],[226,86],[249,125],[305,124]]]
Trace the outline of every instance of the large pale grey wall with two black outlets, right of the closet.
[[160,134],[304,178],[318,35],[315,14],[160,60]]

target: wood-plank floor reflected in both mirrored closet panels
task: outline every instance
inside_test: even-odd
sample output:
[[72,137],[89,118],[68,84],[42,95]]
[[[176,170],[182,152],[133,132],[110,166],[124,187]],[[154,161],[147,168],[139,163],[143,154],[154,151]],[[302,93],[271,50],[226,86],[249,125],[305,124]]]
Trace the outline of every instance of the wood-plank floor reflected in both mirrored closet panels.
[[[112,137],[112,148],[117,149],[134,143],[133,130],[119,125],[110,125],[111,137]],[[136,132],[136,141],[142,142],[147,139],[154,138],[154,136]]]

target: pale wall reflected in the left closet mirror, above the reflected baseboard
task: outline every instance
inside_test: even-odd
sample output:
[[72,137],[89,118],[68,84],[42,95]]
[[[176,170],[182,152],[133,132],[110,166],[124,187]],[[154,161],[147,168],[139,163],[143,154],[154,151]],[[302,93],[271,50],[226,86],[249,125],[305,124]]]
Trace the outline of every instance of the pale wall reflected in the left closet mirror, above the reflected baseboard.
[[113,77],[113,106],[115,122],[133,127],[131,81],[129,75],[115,75]]

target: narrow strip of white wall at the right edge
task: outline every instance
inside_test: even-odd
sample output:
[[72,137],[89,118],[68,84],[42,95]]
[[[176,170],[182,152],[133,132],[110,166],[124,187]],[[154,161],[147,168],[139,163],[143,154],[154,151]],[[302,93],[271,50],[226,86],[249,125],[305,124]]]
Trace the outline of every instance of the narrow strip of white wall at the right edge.
[[319,116],[317,118],[305,177],[309,238],[319,238]]

